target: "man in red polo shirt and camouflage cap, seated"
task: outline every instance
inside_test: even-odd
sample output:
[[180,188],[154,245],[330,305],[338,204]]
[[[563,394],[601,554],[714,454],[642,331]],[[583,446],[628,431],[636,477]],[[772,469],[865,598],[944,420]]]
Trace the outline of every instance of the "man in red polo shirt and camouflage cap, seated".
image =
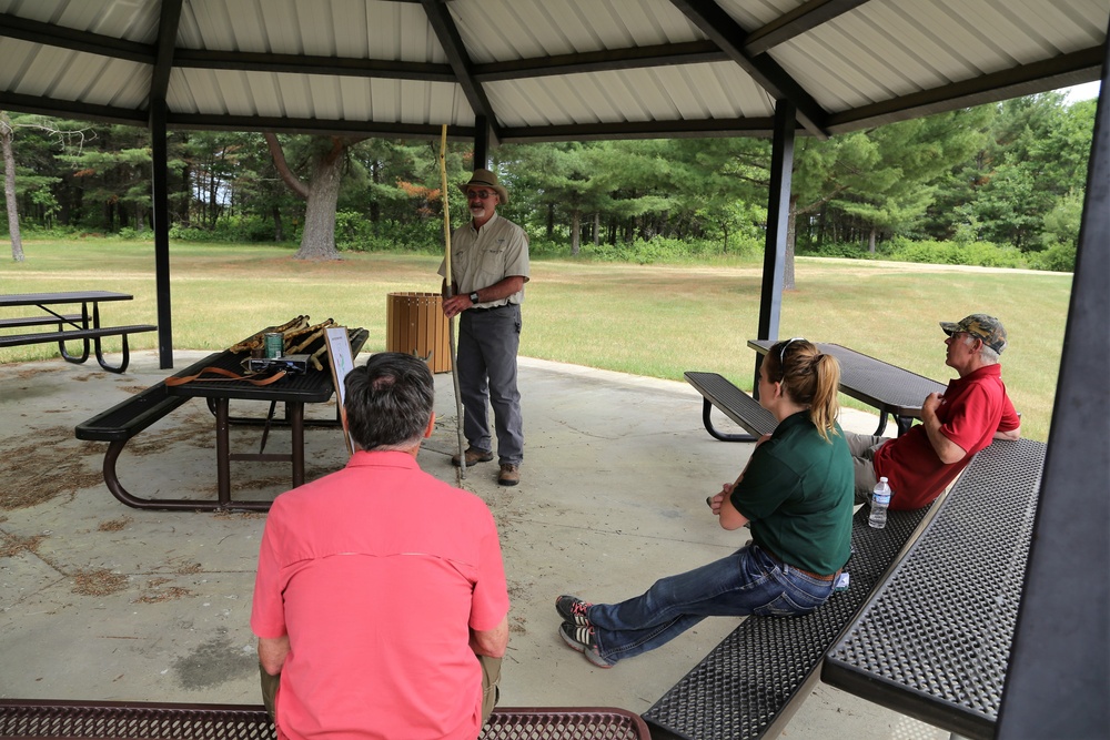
[[944,394],[926,397],[921,424],[894,439],[846,433],[856,464],[857,504],[869,503],[876,480],[886,477],[894,491],[891,509],[928,506],[992,439],[1021,435],[998,364],[1007,345],[1002,322],[971,314],[940,327],[948,335],[945,364],[959,377]]

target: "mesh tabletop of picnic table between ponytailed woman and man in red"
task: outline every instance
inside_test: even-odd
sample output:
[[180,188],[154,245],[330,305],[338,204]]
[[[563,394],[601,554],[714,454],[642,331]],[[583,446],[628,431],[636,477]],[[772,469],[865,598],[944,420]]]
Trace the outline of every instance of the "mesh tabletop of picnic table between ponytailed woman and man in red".
[[[749,339],[748,346],[766,355],[776,339]],[[839,344],[815,342],[817,348],[840,363],[840,392],[879,410],[875,435],[887,428],[887,415],[895,418],[898,434],[909,430],[914,419],[921,418],[921,402],[930,393],[944,393],[948,387],[932,378],[885,363]]]

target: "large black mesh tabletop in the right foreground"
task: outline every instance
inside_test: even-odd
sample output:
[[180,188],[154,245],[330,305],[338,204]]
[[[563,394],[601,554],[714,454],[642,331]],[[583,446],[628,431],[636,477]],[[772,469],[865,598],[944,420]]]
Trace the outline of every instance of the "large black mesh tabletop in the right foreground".
[[826,657],[834,686],[971,738],[992,738],[1045,445],[978,453],[926,534]]

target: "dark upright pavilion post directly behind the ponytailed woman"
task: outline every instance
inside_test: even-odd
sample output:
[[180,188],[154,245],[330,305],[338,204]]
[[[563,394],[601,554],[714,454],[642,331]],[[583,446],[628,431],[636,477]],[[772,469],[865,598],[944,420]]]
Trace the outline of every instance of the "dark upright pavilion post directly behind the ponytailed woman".
[[[759,288],[759,326],[757,338],[778,339],[778,323],[783,308],[783,272],[786,264],[786,237],[790,225],[790,185],[794,175],[794,104],[780,100],[775,104],[775,139],[770,152],[770,186],[767,202],[767,237],[764,243],[763,285]],[[755,395],[759,396],[759,364],[756,353]]]

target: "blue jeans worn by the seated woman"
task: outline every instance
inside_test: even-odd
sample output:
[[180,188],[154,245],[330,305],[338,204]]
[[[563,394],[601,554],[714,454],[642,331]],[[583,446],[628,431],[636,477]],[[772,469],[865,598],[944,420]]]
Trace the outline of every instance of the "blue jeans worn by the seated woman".
[[669,642],[706,617],[788,617],[825,604],[833,581],[783,565],[749,544],[726,558],[662,578],[643,596],[586,611],[602,658],[615,663]]

